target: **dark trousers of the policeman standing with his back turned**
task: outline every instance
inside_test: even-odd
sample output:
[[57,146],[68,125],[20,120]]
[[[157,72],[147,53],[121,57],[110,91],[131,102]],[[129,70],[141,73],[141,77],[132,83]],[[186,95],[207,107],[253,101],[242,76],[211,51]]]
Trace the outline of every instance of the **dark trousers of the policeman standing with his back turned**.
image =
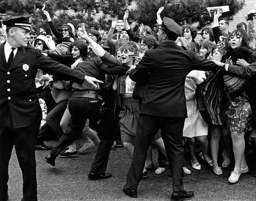
[[182,140],[184,121],[185,118],[183,117],[159,117],[140,114],[134,144],[134,154],[126,178],[128,188],[137,189],[146,161],[147,149],[160,128],[172,172],[172,189],[173,191],[184,190],[184,146]]

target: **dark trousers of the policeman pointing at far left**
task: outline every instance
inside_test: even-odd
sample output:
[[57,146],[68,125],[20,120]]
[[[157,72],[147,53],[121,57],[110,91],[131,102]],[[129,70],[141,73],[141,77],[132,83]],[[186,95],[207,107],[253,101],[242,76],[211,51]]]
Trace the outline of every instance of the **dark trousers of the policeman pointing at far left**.
[[37,201],[35,144],[40,122],[22,128],[0,126],[0,201],[8,194],[8,166],[13,146],[23,176],[23,201]]

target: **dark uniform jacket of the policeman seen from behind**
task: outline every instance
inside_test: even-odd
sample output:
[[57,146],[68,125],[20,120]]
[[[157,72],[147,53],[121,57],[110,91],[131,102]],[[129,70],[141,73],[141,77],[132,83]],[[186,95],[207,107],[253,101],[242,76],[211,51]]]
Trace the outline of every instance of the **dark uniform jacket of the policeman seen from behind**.
[[146,51],[130,72],[131,80],[147,82],[140,113],[164,117],[187,117],[184,85],[192,70],[212,71],[214,62],[174,42],[164,42]]

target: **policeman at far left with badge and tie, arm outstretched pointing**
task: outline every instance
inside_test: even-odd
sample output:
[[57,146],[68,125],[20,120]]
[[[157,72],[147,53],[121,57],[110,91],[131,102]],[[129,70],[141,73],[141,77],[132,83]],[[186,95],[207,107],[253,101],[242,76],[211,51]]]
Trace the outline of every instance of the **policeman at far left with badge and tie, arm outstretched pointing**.
[[[0,201],[8,197],[8,165],[15,146],[23,174],[23,201],[37,201],[35,143],[42,110],[36,96],[38,68],[63,80],[97,87],[94,77],[68,68],[28,46],[29,16],[15,16],[3,21],[7,41],[0,45]],[[99,81],[101,82],[101,81]]]

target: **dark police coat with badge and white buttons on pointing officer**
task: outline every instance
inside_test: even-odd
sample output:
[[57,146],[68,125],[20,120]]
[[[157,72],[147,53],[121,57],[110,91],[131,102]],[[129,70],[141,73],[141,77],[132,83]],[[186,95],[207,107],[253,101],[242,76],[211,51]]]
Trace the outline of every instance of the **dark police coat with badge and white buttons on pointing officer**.
[[[62,80],[84,82],[84,73],[64,66],[32,46],[18,48],[8,67],[4,45],[0,45],[0,126],[20,128],[35,124],[42,119],[42,110],[36,93],[35,77],[38,68],[57,75]],[[25,71],[23,65],[29,69]]]

